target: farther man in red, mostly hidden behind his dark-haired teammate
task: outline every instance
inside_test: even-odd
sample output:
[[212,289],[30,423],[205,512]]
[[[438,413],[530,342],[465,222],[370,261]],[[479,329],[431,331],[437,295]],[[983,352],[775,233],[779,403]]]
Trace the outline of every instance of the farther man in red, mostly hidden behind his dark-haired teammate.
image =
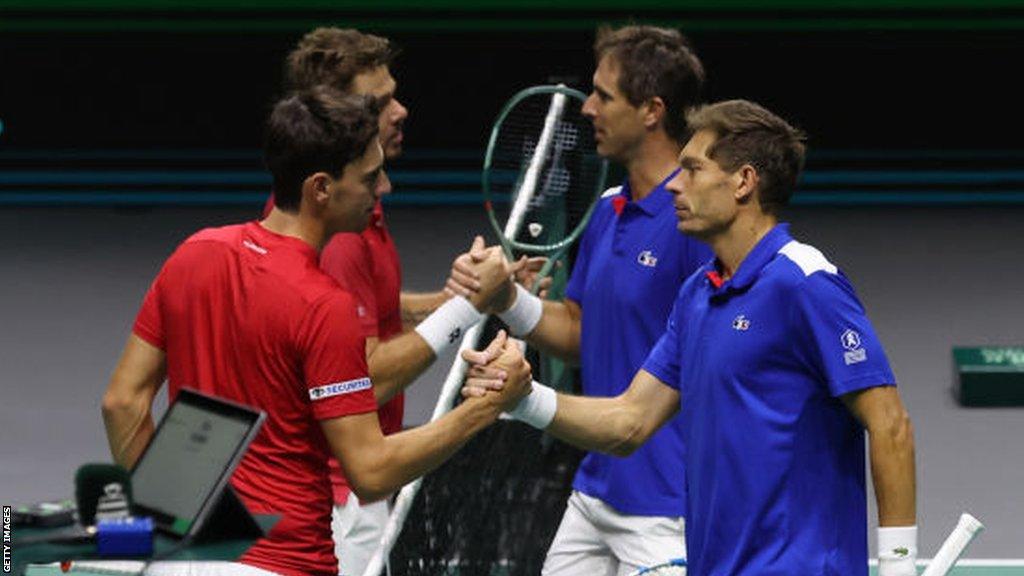
[[[402,126],[409,111],[395,96],[397,84],[390,66],[396,49],[386,38],[351,29],[317,28],[306,34],[288,55],[286,85],[306,89],[326,85],[343,93],[372,96],[380,107],[380,140],[388,161],[402,150]],[[474,246],[481,246],[477,240]],[[401,430],[402,390],[422,374],[446,346],[458,341],[437,330],[428,317],[475,317],[465,298],[444,292],[401,290],[401,266],[378,201],[370,224],[338,234],[321,255],[325,273],[356,301],[359,324],[367,336],[367,357],[380,403],[385,434]],[[439,310],[438,310],[439,308]],[[450,322],[442,323],[446,327]],[[414,329],[415,328],[415,329]],[[388,519],[388,502],[359,500],[350,494],[344,472],[331,461],[334,485],[334,528],[339,574],[360,576],[373,556]]]

